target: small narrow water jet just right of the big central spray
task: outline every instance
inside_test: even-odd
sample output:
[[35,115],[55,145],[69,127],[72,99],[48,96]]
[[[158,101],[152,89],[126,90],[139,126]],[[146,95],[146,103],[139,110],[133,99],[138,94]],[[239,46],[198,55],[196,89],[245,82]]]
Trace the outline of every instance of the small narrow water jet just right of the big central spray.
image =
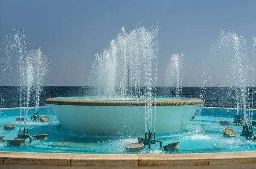
[[175,53],[167,63],[166,81],[168,86],[176,86],[176,97],[182,95],[182,78],[183,78],[184,54]]

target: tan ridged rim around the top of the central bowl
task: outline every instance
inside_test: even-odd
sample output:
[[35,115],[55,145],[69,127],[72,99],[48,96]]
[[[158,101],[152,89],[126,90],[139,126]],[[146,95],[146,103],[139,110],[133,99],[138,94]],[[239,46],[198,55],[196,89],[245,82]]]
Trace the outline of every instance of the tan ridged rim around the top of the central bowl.
[[[72,105],[72,106],[145,106],[145,101],[100,101],[100,100],[61,100],[50,98],[45,100],[46,104]],[[152,106],[185,106],[204,104],[201,99],[191,100],[170,100],[170,101],[151,101]]]

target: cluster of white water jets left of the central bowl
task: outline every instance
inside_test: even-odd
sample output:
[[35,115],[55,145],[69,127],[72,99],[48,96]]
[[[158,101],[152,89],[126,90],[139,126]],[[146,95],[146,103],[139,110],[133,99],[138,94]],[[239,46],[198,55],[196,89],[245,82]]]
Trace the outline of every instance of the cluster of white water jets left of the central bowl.
[[[40,47],[39,49],[33,49],[28,52],[26,51],[26,39],[23,28],[16,29],[14,27],[12,29],[12,33],[6,36],[2,49],[2,52],[6,57],[2,58],[4,64],[1,69],[3,74],[2,79],[3,82],[5,82],[5,80],[8,79],[5,74],[9,74],[9,76],[11,74],[8,72],[7,67],[9,66],[9,69],[15,67],[11,65],[10,60],[15,60],[15,57],[17,57],[19,64],[17,71],[20,74],[19,77],[16,77],[20,80],[19,105],[20,107],[23,107],[23,109],[20,109],[20,116],[16,117],[16,120],[20,122],[24,121],[25,126],[27,125],[27,116],[29,114],[29,106],[31,106],[31,104],[35,104],[35,113],[39,115],[39,100],[42,90],[41,86],[44,83],[49,65],[47,57],[42,54]],[[32,90],[35,90],[35,100],[31,99]],[[0,106],[3,104],[2,95],[0,97]],[[35,118],[33,117],[32,120],[35,120]]]

